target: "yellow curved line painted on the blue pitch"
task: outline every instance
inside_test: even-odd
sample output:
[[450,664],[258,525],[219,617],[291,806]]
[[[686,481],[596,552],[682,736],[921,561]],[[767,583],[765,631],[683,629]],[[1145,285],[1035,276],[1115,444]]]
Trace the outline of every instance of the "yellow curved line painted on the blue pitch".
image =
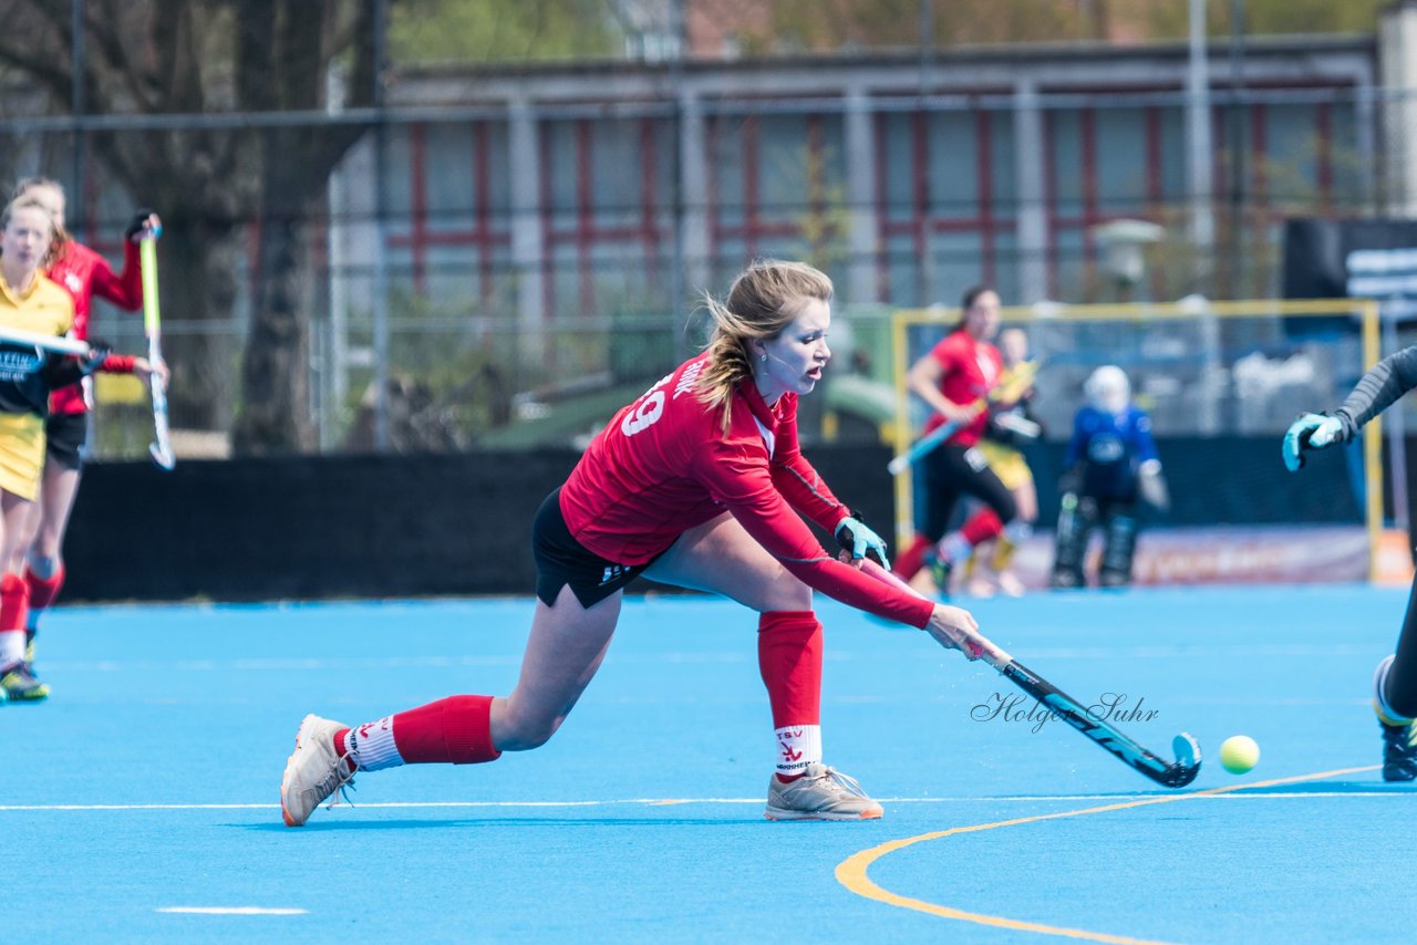
[[1340,775],[1356,775],[1367,771],[1376,771],[1379,765],[1367,765],[1365,768],[1339,768],[1336,771],[1322,771],[1312,775],[1298,775],[1294,778],[1277,778],[1274,781],[1257,781],[1254,783],[1234,785],[1230,788],[1210,788],[1207,791],[1187,791],[1186,793],[1170,793],[1158,795],[1155,798],[1142,798],[1141,800],[1125,800],[1121,803],[1108,803],[1101,808],[1085,808],[1083,810],[1061,810],[1058,813],[1040,813],[1033,817],[1015,817],[1013,820],[998,820],[995,823],[978,823],[968,827],[951,827],[949,830],[937,830],[934,833],[921,833],[920,836],[905,837],[904,840],[891,840],[890,843],[881,843],[880,846],[870,847],[869,850],[862,850],[850,857],[842,860],[836,867],[836,881],[849,888],[857,895],[864,895],[869,900],[876,900],[877,902],[886,902],[887,905],[896,905],[904,910],[914,910],[917,912],[925,912],[928,915],[938,915],[939,918],[952,918],[962,922],[975,922],[976,925],[988,925],[992,928],[1007,928],[1020,932],[1037,932],[1039,935],[1061,935],[1064,938],[1083,938],[1093,942],[1118,942],[1124,945],[1156,945],[1152,939],[1142,938],[1128,938],[1125,935],[1108,935],[1107,932],[1091,932],[1081,928],[1066,928],[1061,925],[1043,925],[1040,922],[1023,922],[1019,919],[1005,918],[1002,915],[985,915],[982,912],[966,912],[965,910],[951,908],[948,905],[939,905],[937,902],[927,902],[924,900],[914,900],[908,895],[897,895],[890,890],[883,890],[876,885],[866,876],[866,871],[873,863],[880,860],[888,853],[896,853],[897,850],[904,850],[908,846],[917,843],[925,843],[928,840],[941,840],[944,837],[958,836],[961,833],[979,833],[981,830],[996,830],[999,827],[1013,827],[1020,823],[1039,823],[1041,820],[1060,820],[1063,817],[1081,817],[1090,813],[1107,813],[1111,810],[1127,810],[1129,808],[1145,808],[1153,803],[1176,803],[1178,800],[1190,800],[1193,798],[1207,798],[1217,793],[1230,793],[1234,791],[1254,791],[1255,788],[1274,788],[1278,785],[1292,785],[1305,781],[1323,781],[1325,778],[1338,778]]

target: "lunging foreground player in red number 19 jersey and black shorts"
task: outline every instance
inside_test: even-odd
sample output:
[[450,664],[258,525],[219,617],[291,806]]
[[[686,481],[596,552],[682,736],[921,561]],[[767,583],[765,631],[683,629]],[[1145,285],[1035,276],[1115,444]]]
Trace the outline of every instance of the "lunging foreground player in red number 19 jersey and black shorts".
[[[281,781],[285,823],[300,826],[356,771],[414,762],[473,764],[543,745],[595,676],[623,587],[638,575],[723,594],[758,612],[758,663],[778,764],[767,816],[881,816],[846,775],[822,764],[820,591],[925,629],[978,659],[973,616],[888,587],[853,567],[886,547],[832,494],[798,448],[798,398],[822,380],[832,282],[816,269],[761,261],[708,300],[704,354],[622,408],[533,523],[537,602],[510,696],[453,696],[347,727],[300,724]],[[833,533],[826,553],[795,511]]]

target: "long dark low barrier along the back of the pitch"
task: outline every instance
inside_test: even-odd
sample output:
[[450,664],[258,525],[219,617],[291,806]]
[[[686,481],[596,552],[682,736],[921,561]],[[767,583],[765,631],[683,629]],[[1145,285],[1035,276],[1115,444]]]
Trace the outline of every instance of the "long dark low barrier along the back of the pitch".
[[[1274,476],[1246,472],[1278,466],[1272,436],[1159,448],[1175,503],[1163,524],[1282,523],[1301,504],[1329,516],[1318,520],[1360,520],[1332,451],[1316,453],[1302,476]],[[886,448],[808,455],[845,502],[890,534]],[[577,458],[563,449],[186,460],[170,475],[150,463],[96,463],[65,547],[65,601],[530,594],[531,516]],[[1041,445],[1032,463],[1049,527],[1061,446]]]

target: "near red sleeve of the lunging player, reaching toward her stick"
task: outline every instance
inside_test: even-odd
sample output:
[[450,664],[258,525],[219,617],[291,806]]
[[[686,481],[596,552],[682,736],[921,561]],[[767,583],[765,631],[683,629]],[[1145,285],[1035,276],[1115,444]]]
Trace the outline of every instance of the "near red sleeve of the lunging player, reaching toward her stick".
[[[757,453],[757,455],[755,455]],[[696,473],[768,554],[799,581],[860,611],[924,628],[934,605],[837,561],[774,486],[767,456],[743,441],[718,441],[699,452]]]

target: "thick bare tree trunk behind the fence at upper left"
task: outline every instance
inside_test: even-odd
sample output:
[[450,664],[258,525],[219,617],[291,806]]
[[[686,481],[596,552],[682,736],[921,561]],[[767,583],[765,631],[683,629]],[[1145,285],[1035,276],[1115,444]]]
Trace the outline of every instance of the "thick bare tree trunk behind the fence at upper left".
[[[231,115],[317,111],[340,60],[344,101],[368,105],[374,23],[368,0],[82,0],[82,98],[88,115]],[[62,0],[0,0],[0,64],[75,98],[72,9]],[[324,214],[324,183],[366,129],[349,125],[98,130],[86,137],[108,174],[163,215],[164,309],[194,320],[232,316],[232,261],[256,224],[249,333],[232,445],[238,453],[306,449],[307,230]],[[235,351],[218,333],[173,337],[179,425],[225,428]]]

